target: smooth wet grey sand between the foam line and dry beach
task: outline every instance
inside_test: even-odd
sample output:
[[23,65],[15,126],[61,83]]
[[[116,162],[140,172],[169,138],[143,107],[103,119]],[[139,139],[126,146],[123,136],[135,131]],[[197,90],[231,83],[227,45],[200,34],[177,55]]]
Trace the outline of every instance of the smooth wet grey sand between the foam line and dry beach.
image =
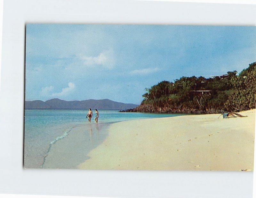
[[106,139],[108,126],[106,123],[86,123],[71,128],[64,138],[49,145],[41,168],[77,168],[89,158],[90,150]]

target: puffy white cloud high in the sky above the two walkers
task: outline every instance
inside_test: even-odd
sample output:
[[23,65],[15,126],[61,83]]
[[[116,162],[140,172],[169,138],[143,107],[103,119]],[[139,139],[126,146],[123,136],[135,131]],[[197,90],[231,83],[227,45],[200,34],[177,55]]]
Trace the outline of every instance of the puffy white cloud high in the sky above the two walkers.
[[113,50],[101,52],[98,56],[78,55],[78,58],[84,62],[84,65],[89,67],[101,65],[103,68],[112,69],[115,66]]

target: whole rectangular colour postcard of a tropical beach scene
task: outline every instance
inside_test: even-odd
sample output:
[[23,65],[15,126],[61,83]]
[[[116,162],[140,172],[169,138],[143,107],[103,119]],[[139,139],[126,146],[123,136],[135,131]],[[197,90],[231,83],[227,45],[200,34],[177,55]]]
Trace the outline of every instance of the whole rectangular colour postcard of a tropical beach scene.
[[255,33],[27,24],[24,167],[252,171]]

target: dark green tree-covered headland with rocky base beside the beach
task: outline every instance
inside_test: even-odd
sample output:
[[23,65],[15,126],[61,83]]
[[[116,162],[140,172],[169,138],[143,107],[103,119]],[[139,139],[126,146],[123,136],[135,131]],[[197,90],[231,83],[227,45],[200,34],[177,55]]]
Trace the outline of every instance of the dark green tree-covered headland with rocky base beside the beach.
[[145,89],[138,112],[223,113],[255,108],[256,62],[237,75],[229,71],[213,78],[181,77]]

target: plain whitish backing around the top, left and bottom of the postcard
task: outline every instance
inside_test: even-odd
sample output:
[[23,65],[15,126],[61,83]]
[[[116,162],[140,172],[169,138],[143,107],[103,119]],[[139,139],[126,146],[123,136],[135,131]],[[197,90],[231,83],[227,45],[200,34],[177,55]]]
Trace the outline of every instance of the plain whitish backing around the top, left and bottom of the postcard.
[[252,172],[24,170],[21,162],[25,23],[255,26],[255,5],[6,0],[3,19],[0,193],[174,198],[252,196]]

